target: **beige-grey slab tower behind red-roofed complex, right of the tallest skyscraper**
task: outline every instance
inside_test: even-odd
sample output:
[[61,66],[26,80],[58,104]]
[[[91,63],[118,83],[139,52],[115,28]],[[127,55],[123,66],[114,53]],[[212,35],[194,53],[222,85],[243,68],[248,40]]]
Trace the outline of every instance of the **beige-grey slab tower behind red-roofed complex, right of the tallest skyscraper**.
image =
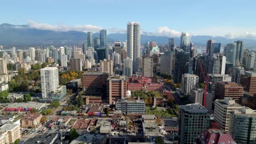
[[153,77],[153,57],[143,57],[142,61],[142,75],[146,77]]

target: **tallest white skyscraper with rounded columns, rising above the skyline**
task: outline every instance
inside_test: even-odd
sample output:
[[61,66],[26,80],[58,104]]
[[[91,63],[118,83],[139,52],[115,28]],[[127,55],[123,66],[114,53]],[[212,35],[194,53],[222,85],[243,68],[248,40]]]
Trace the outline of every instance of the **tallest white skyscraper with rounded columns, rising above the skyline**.
[[141,26],[138,22],[127,23],[127,57],[133,61],[133,73],[139,70],[141,57]]

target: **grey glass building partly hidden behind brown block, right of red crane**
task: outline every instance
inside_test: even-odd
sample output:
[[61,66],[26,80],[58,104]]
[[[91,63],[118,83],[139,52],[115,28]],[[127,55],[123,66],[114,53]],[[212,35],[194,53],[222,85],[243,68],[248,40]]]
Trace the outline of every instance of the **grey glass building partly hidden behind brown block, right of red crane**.
[[230,82],[231,81],[231,76],[229,75],[221,75],[221,74],[208,74],[208,92],[214,92],[215,85],[219,81],[225,81],[225,82]]

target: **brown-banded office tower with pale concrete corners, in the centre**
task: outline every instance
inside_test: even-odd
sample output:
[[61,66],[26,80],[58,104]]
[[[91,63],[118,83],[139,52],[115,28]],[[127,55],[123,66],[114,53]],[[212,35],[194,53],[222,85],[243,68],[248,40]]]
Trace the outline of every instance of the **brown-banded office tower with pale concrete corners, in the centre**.
[[107,99],[109,104],[115,104],[126,97],[126,76],[109,76],[107,79]]

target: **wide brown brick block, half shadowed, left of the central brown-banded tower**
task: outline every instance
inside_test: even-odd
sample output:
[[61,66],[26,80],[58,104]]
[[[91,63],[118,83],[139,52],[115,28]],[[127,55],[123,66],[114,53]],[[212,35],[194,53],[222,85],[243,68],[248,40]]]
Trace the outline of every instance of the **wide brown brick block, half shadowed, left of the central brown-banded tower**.
[[89,87],[99,87],[102,88],[106,86],[106,80],[108,74],[100,72],[85,72],[82,77],[82,86],[84,89]]

